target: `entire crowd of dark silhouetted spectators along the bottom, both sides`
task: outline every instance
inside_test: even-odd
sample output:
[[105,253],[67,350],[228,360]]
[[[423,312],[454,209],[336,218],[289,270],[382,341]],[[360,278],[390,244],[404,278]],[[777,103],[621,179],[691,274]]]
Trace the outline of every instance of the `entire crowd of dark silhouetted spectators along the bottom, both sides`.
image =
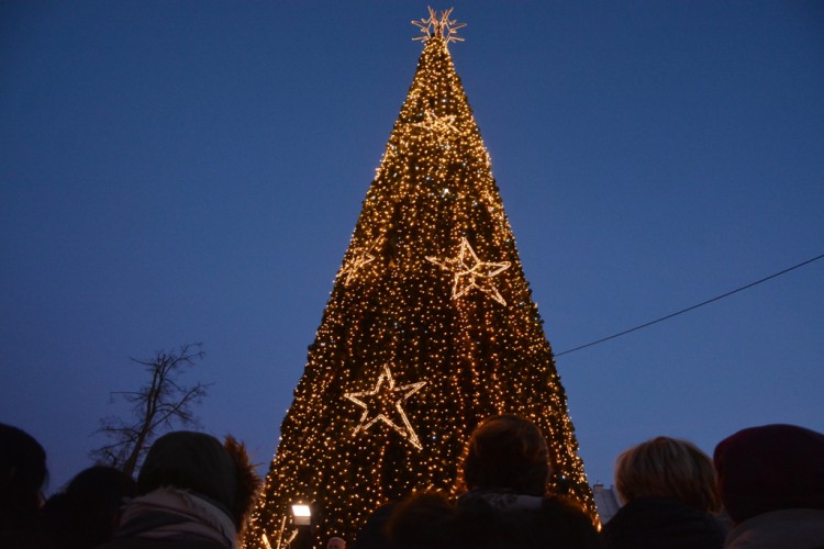
[[[541,430],[511,414],[472,433],[457,500],[417,493],[378,508],[357,549],[824,549],[824,435],[751,427],[712,458],[656,437],[619,456],[623,507],[600,529],[580,504],[547,493]],[[46,453],[0,424],[0,548],[234,549],[260,479],[243,444],[175,432],[151,447],[137,480],[94,466],[47,501]],[[339,537],[329,548],[352,547]]]

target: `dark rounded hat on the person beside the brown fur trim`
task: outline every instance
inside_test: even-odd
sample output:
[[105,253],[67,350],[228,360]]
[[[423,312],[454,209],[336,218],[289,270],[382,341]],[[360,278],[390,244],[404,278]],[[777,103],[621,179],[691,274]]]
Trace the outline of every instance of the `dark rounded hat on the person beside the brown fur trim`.
[[175,432],[162,436],[148,450],[137,477],[137,493],[175,486],[204,495],[232,516],[237,473],[232,456],[213,436]]

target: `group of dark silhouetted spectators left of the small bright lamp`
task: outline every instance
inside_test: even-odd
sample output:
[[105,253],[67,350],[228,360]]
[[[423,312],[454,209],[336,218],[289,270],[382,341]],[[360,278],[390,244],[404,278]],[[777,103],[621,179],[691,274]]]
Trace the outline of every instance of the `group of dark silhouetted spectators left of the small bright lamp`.
[[0,548],[235,548],[260,484],[243,444],[191,432],[155,440],[136,481],[94,466],[44,502],[46,478],[43,447],[0,424]]

